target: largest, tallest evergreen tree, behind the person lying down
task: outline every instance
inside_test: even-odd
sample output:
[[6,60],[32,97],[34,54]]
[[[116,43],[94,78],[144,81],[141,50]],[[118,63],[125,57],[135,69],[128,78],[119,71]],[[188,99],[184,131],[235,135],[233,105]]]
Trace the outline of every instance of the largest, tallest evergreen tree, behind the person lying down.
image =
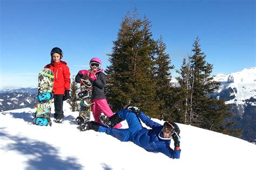
[[157,111],[154,103],[156,82],[153,80],[154,61],[157,42],[152,39],[150,22],[137,17],[134,10],[125,16],[116,41],[113,41],[110,56],[111,65],[107,67],[108,83],[106,94],[113,111],[133,103],[149,116]]

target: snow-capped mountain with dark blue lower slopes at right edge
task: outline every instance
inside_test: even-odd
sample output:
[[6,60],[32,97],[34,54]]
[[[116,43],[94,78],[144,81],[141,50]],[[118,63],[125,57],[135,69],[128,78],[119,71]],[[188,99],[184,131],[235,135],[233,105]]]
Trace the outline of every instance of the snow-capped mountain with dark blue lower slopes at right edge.
[[230,105],[232,119],[237,121],[234,128],[244,130],[243,139],[256,140],[256,67],[227,75],[217,74],[214,80],[221,82],[214,96]]

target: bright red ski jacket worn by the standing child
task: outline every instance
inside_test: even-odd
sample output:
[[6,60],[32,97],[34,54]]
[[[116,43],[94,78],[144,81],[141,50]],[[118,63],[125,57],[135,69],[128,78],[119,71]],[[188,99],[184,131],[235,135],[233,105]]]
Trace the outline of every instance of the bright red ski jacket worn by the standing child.
[[49,68],[54,74],[53,91],[55,95],[64,95],[70,90],[70,72],[65,61],[51,62],[44,68]]

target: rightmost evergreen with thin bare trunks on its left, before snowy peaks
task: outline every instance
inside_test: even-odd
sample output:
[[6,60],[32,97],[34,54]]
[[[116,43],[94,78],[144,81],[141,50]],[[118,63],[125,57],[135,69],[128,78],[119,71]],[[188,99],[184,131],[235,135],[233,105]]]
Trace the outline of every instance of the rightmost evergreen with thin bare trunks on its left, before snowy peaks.
[[206,62],[198,37],[194,41],[192,52],[188,62],[184,59],[183,66],[178,71],[181,77],[177,77],[180,84],[178,89],[182,94],[177,101],[180,103],[184,122],[208,130],[231,132],[227,128],[232,123],[225,120],[232,114],[228,112],[225,101],[210,97],[220,83],[213,81],[211,77],[213,66]]

